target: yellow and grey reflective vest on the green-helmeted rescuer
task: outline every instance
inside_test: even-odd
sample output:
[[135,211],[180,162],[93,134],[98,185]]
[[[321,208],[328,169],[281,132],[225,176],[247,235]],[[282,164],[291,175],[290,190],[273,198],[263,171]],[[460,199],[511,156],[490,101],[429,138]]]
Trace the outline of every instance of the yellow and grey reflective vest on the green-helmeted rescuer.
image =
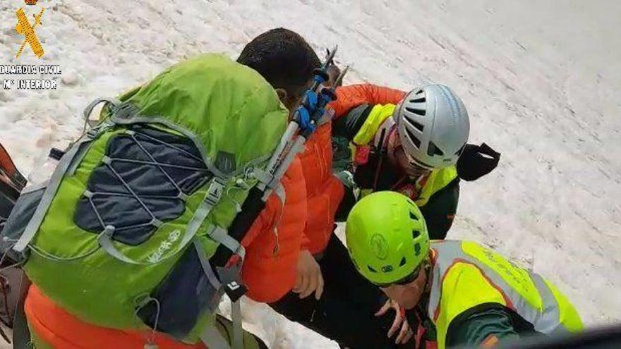
[[498,303],[548,335],[582,329],[579,315],[562,293],[541,276],[516,267],[498,253],[471,242],[433,242],[436,252],[428,316],[445,348],[455,317],[477,305]]

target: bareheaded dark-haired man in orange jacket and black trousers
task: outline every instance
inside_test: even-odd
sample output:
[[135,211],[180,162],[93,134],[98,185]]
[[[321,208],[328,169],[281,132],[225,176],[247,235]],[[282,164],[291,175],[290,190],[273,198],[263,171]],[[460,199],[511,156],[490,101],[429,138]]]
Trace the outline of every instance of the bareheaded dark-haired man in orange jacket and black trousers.
[[[313,78],[313,69],[320,66],[308,42],[284,28],[255,37],[237,61],[263,75],[291,113]],[[338,75],[339,70],[332,69],[327,84],[335,83]],[[322,118],[300,154],[308,220],[296,284],[270,306],[287,319],[349,348],[397,348],[394,339],[386,336],[396,314],[374,315],[385,303],[385,295],[358,274],[346,248],[333,234],[334,215],[344,189],[332,174],[331,112],[329,109]]]

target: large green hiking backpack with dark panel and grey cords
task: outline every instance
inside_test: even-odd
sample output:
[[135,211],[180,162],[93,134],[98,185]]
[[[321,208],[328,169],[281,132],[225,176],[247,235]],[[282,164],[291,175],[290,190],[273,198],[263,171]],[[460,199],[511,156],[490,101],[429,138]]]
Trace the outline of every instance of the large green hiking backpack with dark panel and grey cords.
[[102,102],[100,123],[47,188],[20,198],[4,243],[27,257],[32,283],[85,322],[205,340],[222,296],[209,259],[219,246],[243,257],[227,228],[265,180],[288,111],[258,73],[219,55],[99,99],[85,116]]

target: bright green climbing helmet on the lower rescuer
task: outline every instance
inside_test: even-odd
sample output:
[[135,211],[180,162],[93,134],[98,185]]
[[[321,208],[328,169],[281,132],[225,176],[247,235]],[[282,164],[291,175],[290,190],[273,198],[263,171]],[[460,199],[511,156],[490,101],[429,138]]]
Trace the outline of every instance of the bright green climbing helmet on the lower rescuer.
[[347,248],[368,281],[387,285],[410,276],[429,252],[421,210],[398,192],[374,192],[347,217]]

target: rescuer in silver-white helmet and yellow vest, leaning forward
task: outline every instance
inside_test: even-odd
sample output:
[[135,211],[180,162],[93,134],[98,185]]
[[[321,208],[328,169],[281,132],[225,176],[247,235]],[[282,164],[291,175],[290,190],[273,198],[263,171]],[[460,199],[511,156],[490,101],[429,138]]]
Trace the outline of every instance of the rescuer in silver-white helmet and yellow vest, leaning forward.
[[[337,89],[337,97],[332,102],[336,162],[343,167],[343,159],[351,158],[349,180],[360,188],[359,196],[378,190],[401,192],[423,212],[430,236],[445,238],[457,212],[459,179],[476,180],[500,159],[485,144],[466,145],[470,125],[462,100],[443,85],[408,94],[351,85]],[[353,156],[343,147],[347,142]],[[356,201],[352,196],[339,208],[342,219]]]

